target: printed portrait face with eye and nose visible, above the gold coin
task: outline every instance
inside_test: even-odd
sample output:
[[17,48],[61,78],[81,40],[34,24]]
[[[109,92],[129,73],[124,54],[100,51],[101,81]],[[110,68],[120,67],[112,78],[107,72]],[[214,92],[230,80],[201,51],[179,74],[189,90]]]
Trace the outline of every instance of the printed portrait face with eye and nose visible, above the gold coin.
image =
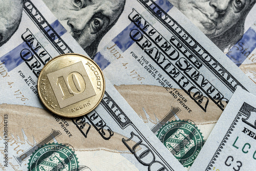
[[117,20],[125,0],[44,0],[44,2],[85,49],[95,39],[102,38],[105,30]]

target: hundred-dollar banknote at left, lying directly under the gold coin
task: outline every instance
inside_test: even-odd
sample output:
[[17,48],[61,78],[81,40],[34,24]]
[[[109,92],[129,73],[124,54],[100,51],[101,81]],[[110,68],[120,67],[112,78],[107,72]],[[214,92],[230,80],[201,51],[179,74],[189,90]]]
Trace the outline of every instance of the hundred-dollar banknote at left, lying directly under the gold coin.
[[[17,4],[20,15],[9,14]],[[0,7],[3,20],[9,17],[6,29],[15,25],[0,48],[2,170],[185,170],[106,78],[103,99],[90,114],[68,119],[44,109],[41,68],[58,54],[88,54],[41,1],[1,1]],[[13,17],[19,22],[11,25]]]

